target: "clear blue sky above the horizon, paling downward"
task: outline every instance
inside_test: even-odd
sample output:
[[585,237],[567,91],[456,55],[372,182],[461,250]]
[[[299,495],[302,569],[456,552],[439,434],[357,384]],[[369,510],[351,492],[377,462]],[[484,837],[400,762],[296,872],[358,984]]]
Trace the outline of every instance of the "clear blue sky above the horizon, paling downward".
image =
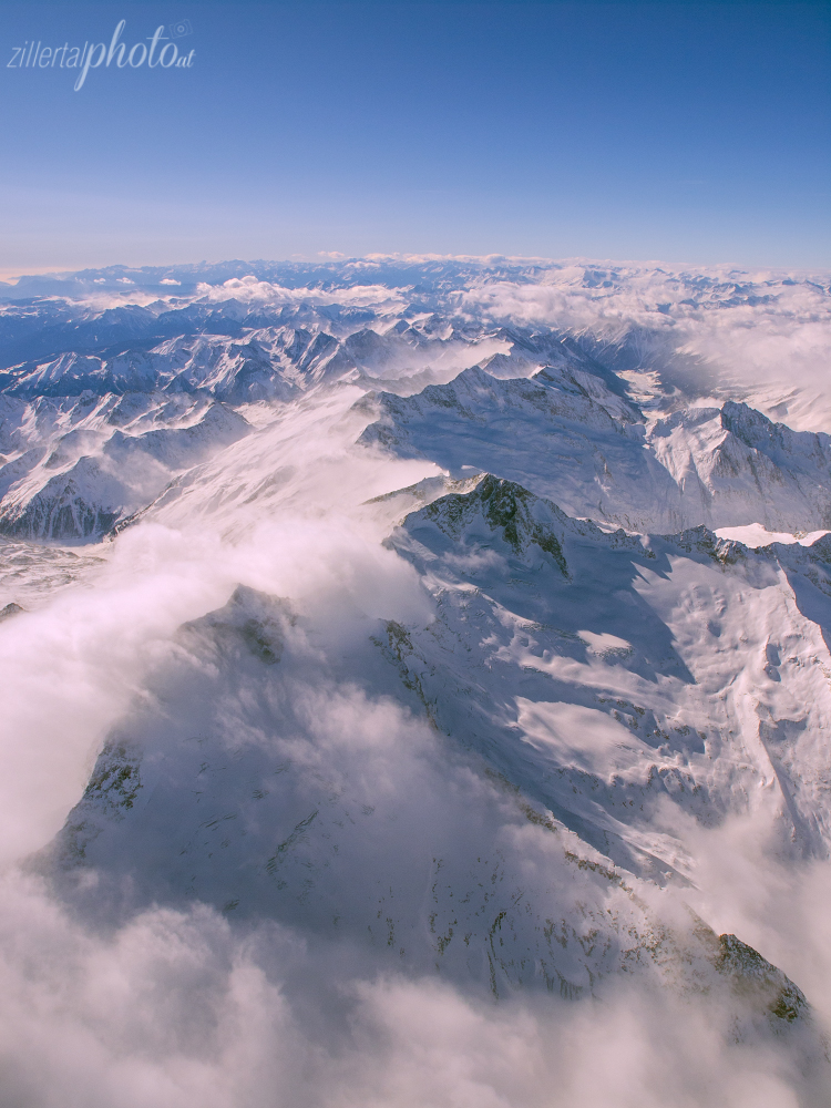
[[[193,65],[102,65],[78,92],[76,71],[9,68],[121,19],[127,48],[189,20]],[[0,42],[0,274],[318,252],[831,266],[828,3],[7,2]]]

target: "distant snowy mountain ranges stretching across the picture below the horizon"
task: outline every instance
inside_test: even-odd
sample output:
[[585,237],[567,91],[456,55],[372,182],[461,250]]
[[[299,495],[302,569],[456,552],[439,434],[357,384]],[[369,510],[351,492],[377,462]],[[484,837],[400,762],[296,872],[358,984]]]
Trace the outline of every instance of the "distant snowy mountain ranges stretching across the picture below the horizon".
[[[831,413],[817,402],[820,366],[797,383],[766,346],[752,353],[766,328],[774,347],[800,327],[792,346],[810,353],[827,285],[391,259],[24,278],[28,297],[0,304],[0,527],[100,538],[244,433],[250,406],[348,381],[387,393],[367,441],[423,453],[421,425],[441,413],[448,441],[428,450],[441,465],[464,454],[576,515],[630,530],[824,529],[828,440],[808,433]],[[777,422],[791,409],[796,433]]]

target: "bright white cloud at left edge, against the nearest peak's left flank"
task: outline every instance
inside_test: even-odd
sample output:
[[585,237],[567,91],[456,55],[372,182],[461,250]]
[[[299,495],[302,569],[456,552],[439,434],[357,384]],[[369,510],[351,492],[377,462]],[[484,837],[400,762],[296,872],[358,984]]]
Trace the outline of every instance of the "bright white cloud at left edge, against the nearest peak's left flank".
[[150,527],[125,538],[90,592],[65,589],[0,625],[0,665],[14,690],[0,724],[3,861],[55,833],[158,645],[227,589],[222,568],[205,573],[203,562],[194,573],[199,554],[181,535]]

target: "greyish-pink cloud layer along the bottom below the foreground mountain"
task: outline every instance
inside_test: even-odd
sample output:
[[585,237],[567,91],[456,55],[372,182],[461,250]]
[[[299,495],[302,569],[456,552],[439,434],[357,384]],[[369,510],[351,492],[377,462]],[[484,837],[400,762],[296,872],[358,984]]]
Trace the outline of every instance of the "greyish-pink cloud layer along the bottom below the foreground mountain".
[[[496,1005],[334,968],[290,929],[152,909],[104,934],[32,878],[0,897],[0,1084],[10,1108],[807,1108],[787,1056],[730,1043],[695,999]],[[300,983],[306,982],[305,986]]]

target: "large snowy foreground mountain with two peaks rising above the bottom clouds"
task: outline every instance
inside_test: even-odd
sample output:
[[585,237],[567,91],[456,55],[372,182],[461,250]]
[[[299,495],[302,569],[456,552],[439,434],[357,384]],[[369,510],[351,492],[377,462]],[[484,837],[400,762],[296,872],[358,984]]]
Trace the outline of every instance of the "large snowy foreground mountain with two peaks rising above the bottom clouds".
[[[749,798],[751,809],[777,810],[782,851],[828,856],[831,695],[815,622],[831,596],[825,540],[751,552],[704,527],[669,538],[607,534],[485,475],[407,515],[387,544],[416,566],[429,617],[376,620],[348,658],[332,657],[326,628],[290,601],[243,586],[183,627],[151,686],[151,707],[109,741],[53,848],[61,870],[94,868],[98,905],[107,874],[112,895],[124,896],[126,870],[138,903],[198,896],[240,916],[285,917],[335,935],[368,930],[378,943],[376,909],[384,904],[381,930],[399,935],[387,945],[417,965],[437,950],[449,955],[456,937],[462,966],[492,975],[499,965],[509,981],[542,973],[550,985],[556,974],[575,995],[589,987],[605,962],[581,957],[578,979],[568,976],[577,955],[561,935],[561,958],[544,937],[546,913],[564,911],[544,885],[533,895],[527,889],[520,910],[516,875],[500,864],[505,888],[495,901],[478,899],[471,890],[486,888],[496,863],[474,864],[460,847],[461,856],[443,863],[444,880],[469,906],[444,904],[444,919],[438,901],[422,900],[439,848],[431,854],[420,843],[402,875],[412,815],[401,812],[394,829],[370,819],[391,798],[366,774],[356,782],[336,770],[339,737],[324,741],[335,743],[334,765],[315,750],[308,697],[345,685],[361,690],[365,710],[391,697],[423,717],[444,738],[435,750],[422,733],[422,757],[425,748],[483,773],[486,807],[512,824],[529,821],[537,839],[553,833],[561,864],[591,860],[601,889],[624,888],[623,873],[635,889],[637,878],[694,881],[685,820],[722,822]],[[690,591],[695,616],[681,601]],[[451,812],[461,799],[448,799]],[[361,845],[352,842],[358,813]],[[413,882],[412,866],[425,865]],[[465,880],[471,890],[459,884]],[[366,884],[352,919],[337,907],[341,882]],[[589,914],[594,930],[605,929],[604,911]],[[643,911],[637,922],[625,916],[634,945],[615,958],[655,956],[644,933],[656,921]],[[507,960],[494,951],[494,920],[511,934]]]

